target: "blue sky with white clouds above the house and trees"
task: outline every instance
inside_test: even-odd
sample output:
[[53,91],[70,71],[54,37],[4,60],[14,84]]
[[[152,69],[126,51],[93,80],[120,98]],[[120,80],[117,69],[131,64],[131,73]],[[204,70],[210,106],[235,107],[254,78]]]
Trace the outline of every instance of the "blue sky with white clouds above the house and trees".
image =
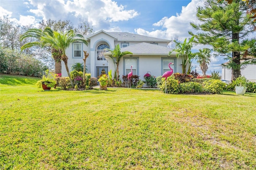
[[[196,7],[203,0],[0,0],[0,17],[9,16],[20,25],[38,26],[44,20],[70,20],[74,26],[80,18],[87,18],[95,32],[130,32],[144,36],[181,41],[196,33],[190,22],[197,23]],[[194,46],[192,52],[204,46]],[[206,72],[219,71],[224,57],[212,57]],[[192,70],[202,74],[199,64],[192,62]]]

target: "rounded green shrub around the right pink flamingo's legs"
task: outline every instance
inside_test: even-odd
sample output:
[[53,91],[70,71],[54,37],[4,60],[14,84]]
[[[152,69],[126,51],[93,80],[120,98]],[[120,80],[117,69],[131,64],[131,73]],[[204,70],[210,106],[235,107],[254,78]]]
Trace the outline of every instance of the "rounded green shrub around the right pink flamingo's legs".
[[[179,81],[174,79],[174,76],[170,76],[166,80],[167,91],[171,94],[179,93]],[[162,84],[159,87],[163,92],[165,92],[165,79],[162,79]]]

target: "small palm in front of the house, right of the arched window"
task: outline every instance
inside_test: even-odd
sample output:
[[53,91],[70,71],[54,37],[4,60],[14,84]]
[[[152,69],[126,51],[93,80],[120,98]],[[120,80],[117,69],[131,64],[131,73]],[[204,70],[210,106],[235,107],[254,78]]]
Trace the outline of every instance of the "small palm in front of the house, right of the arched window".
[[106,50],[111,52],[110,58],[112,58],[114,64],[116,64],[116,70],[115,70],[116,75],[117,75],[116,81],[118,81],[119,80],[119,69],[118,68],[119,68],[119,62],[120,62],[121,58],[126,54],[133,54],[133,53],[130,51],[121,52],[119,44],[117,44],[113,50],[111,50],[109,48],[106,48]]

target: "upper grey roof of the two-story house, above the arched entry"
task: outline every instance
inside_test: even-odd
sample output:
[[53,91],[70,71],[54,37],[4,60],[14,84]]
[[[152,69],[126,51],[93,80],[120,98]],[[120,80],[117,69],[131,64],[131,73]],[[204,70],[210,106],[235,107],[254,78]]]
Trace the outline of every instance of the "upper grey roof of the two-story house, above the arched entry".
[[154,37],[148,37],[148,36],[142,36],[139,34],[132,34],[132,33],[128,33],[128,32],[106,32],[104,30],[100,30],[94,34],[89,34],[86,35],[85,38],[87,38],[88,40],[90,40],[90,38],[92,38],[93,36],[100,34],[100,33],[105,33],[109,36],[111,36],[112,38],[114,38],[117,41],[129,41],[129,42],[166,42],[169,43],[171,42],[170,40],[165,40],[165,39],[161,39],[161,38],[154,38]]

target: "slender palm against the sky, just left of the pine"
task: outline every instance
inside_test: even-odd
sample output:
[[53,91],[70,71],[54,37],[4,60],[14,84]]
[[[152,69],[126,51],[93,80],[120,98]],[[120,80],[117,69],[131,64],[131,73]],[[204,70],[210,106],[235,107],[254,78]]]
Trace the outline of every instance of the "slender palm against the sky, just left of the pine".
[[211,62],[211,50],[208,48],[199,49],[199,52],[196,52],[196,59],[200,65],[200,69],[202,70],[203,76],[206,75],[206,71],[208,69],[208,65]]

